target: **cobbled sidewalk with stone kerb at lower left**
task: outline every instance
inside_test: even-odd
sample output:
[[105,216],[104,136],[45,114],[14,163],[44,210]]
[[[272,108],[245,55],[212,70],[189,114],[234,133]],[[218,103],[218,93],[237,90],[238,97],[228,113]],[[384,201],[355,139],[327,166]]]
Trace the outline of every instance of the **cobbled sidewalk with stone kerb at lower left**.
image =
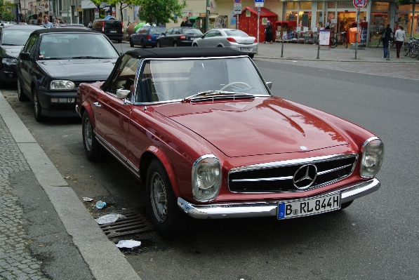
[[0,278],[140,279],[0,92]]

